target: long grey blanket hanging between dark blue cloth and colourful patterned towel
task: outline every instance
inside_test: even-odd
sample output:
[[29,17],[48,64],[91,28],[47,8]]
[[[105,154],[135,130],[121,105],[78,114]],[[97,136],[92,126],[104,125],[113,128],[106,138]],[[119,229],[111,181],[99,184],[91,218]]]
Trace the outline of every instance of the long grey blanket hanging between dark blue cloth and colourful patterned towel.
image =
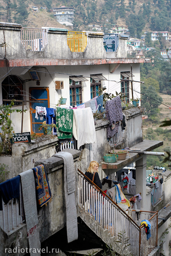
[[[19,174],[21,177],[21,186],[23,191],[23,204],[26,215],[26,228],[28,236],[28,244],[31,249],[30,256],[40,256],[40,236],[37,227],[37,204],[36,189],[33,170],[28,170]],[[38,252],[38,251],[39,252]]]

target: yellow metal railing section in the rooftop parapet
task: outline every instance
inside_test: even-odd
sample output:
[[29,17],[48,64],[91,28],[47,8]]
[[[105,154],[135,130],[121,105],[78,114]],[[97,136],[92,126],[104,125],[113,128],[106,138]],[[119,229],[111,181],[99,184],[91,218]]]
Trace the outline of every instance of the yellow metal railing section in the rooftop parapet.
[[67,43],[71,52],[83,52],[87,45],[86,33],[68,31]]

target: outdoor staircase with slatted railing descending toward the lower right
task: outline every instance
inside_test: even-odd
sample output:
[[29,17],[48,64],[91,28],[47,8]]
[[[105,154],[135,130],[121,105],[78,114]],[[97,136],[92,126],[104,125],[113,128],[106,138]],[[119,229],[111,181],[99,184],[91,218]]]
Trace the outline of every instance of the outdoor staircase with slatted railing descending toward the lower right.
[[151,222],[151,238],[147,240],[144,227],[133,220],[135,211],[131,218],[111,198],[104,197],[101,189],[97,192],[94,189],[96,185],[91,186],[79,169],[78,175],[78,204],[80,218],[85,224],[117,253],[120,253],[121,244],[117,241],[121,234],[128,239],[125,239],[124,245],[133,256],[153,255],[157,249],[157,212],[143,212],[152,215],[148,219]]

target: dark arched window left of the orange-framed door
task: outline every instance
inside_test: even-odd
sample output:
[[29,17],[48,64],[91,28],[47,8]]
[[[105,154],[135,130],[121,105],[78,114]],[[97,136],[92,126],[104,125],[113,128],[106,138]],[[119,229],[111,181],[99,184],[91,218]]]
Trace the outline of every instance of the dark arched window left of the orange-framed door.
[[[23,100],[23,84],[17,76],[7,76],[2,82],[3,104],[8,105],[9,100]],[[22,102],[14,102],[14,105],[22,105]]]

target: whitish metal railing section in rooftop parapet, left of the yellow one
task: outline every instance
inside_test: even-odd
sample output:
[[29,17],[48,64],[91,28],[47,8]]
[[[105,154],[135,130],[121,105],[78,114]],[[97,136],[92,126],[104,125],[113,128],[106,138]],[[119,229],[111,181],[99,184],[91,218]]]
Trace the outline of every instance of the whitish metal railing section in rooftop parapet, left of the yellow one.
[[21,43],[27,51],[41,51],[48,43],[46,29],[23,27],[21,29]]

